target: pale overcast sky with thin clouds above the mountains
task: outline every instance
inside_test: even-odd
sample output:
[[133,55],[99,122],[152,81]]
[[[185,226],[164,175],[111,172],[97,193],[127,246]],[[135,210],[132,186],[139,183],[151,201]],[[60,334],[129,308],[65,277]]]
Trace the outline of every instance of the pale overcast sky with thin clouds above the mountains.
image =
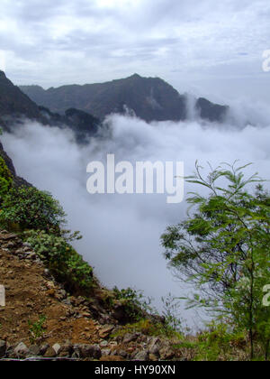
[[16,84],[134,72],[220,101],[270,102],[269,0],[1,0],[0,67]]

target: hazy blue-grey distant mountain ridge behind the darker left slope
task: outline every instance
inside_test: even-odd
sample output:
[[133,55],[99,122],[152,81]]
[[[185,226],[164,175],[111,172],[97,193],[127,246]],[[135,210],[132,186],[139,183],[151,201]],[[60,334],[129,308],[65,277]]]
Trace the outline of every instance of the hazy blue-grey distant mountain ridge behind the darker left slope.
[[[187,118],[186,97],[159,78],[142,78],[138,74],[127,79],[102,84],[70,85],[44,90],[39,86],[22,86],[23,92],[40,106],[64,114],[78,108],[99,119],[127,110],[151,121],[179,121]],[[222,122],[228,106],[219,106],[200,98],[195,106],[199,116]]]

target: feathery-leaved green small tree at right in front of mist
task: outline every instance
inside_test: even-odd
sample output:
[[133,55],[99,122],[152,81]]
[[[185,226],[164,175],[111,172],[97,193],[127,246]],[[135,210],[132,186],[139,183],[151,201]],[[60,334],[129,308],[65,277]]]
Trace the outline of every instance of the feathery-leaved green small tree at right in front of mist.
[[[196,210],[178,226],[168,227],[162,244],[175,273],[200,288],[202,295],[194,302],[248,330],[253,358],[255,334],[269,346],[270,314],[262,299],[270,282],[270,197],[257,174],[245,180],[246,167],[219,167],[203,178],[196,163],[187,181],[210,194],[191,194],[188,203]],[[222,179],[227,186],[221,186]],[[249,192],[252,183],[258,184],[254,194]]]

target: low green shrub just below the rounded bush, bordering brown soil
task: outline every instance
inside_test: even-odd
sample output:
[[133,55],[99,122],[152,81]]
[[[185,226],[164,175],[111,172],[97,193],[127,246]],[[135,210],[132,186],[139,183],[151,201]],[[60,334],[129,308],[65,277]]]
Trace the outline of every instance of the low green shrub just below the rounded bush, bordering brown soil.
[[[67,243],[67,237],[36,230],[25,232],[25,236],[26,242],[47,265],[56,280],[64,283],[67,291],[82,293],[91,290],[94,284],[93,269]],[[79,237],[75,234],[75,238]]]

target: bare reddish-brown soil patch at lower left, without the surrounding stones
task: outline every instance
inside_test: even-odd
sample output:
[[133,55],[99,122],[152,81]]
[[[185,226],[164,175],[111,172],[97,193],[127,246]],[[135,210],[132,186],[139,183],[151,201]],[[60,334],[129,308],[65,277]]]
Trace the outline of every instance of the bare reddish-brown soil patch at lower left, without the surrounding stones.
[[92,344],[100,339],[93,319],[68,318],[74,309],[54,298],[42,264],[20,260],[0,248],[0,284],[5,287],[6,301],[0,308],[0,339],[29,344],[29,321],[35,322],[41,315],[47,318],[45,341],[50,345],[65,340]]

